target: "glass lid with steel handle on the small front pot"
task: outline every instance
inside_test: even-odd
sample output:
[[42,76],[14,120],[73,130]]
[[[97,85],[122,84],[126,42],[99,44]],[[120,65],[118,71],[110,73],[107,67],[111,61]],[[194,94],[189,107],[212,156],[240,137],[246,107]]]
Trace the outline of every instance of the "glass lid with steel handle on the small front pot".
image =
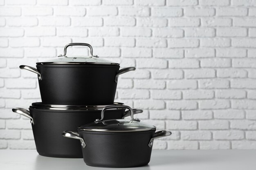
[[[112,108],[129,109],[131,119],[103,120],[104,111]],[[106,106],[101,111],[100,120],[97,119],[92,123],[80,126],[78,129],[85,130],[85,131],[97,131],[97,132],[133,132],[133,131],[155,130],[156,127],[150,124],[143,123],[139,119],[134,119],[132,108],[130,108],[129,106]]]

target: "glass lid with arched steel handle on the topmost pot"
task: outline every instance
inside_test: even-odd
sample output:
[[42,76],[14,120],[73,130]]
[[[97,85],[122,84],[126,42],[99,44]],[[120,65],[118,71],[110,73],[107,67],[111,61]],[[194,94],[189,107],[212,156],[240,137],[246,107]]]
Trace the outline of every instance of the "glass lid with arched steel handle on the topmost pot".
[[[67,47],[69,46],[88,46],[90,48],[90,56],[67,56]],[[64,47],[64,54],[58,55],[58,58],[54,58],[52,60],[48,60],[46,62],[38,62],[37,65],[42,64],[101,64],[101,65],[118,65],[119,63],[114,63],[109,60],[98,57],[97,55],[93,55],[92,46],[87,43],[70,43]]]

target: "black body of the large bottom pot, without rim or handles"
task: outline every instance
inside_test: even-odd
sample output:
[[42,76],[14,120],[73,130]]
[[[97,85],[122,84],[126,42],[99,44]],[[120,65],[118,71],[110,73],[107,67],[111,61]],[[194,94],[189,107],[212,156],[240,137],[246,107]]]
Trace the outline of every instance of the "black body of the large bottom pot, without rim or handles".
[[[101,118],[101,110],[43,110],[29,108],[34,119],[32,130],[39,155],[83,158],[78,140],[63,137],[64,130],[75,130]],[[121,119],[125,109],[106,110],[104,119]]]

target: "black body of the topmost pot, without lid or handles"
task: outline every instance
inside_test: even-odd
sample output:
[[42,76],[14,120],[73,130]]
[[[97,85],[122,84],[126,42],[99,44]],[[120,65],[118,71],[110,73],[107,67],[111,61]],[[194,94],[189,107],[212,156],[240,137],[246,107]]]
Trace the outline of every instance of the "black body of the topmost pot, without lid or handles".
[[36,65],[43,104],[110,105],[117,83],[117,65],[43,64]]

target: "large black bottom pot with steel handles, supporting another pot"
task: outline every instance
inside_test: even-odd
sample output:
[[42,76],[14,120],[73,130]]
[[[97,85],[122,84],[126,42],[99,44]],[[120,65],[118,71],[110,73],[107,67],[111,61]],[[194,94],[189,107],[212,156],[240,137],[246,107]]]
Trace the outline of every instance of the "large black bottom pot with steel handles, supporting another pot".
[[[122,103],[113,103],[121,106]],[[36,150],[39,155],[60,158],[82,158],[79,141],[63,138],[63,130],[76,130],[78,126],[101,118],[105,106],[53,106],[32,103],[29,110],[13,108],[12,111],[28,117],[31,122]],[[142,110],[134,110],[142,113]],[[106,112],[104,119],[121,119],[130,116],[125,108],[114,108]]]

